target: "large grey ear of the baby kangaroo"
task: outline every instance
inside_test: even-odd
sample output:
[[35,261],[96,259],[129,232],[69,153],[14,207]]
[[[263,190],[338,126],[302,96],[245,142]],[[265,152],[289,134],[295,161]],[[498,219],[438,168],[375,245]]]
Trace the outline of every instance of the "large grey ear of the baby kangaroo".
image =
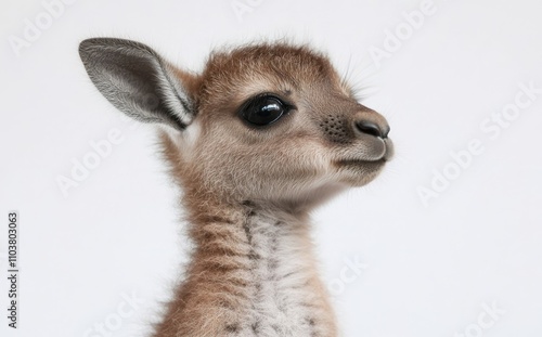
[[79,44],[79,55],[98,90],[128,116],[178,130],[192,122],[193,99],[176,69],[147,46],[95,38]]

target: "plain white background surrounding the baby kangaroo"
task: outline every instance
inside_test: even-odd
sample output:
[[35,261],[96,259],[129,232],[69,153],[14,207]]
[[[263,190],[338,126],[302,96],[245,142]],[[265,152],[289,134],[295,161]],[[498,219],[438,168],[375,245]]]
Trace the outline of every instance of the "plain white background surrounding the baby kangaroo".
[[[48,23],[40,1],[2,0],[0,335],[144,336],[180,276],[189,247],[154,131],[98,93],[77,53],[85,38],[113,36],[194,70],[214,48],[289,37],[366,87],[362,103],[388,118],[397,156],[313,216],[344,336],[542,336],[542,93],[498,135],[481,127],[514,112],[519,83],[542,88],[542,4],[435,0],[409,36],[403,13],[422,2],[75,0]],[[250,11],[237,16],[235,3]],[[26,20],[43,29],[13,48]],[[386,51],[386,30],[401,31],[397,50]],[[379,66],[376,49],[389,52]],[[57,177],[116,129],[122,141],[65,197]],[[476,139],[483,151],[456,170],[450,153]],[[424,205],[418,190],[447,168],[453,179]],[[16,332],[5,317],[10,210],[21,225]],[[352,274],[346,260],[366,265]]]

